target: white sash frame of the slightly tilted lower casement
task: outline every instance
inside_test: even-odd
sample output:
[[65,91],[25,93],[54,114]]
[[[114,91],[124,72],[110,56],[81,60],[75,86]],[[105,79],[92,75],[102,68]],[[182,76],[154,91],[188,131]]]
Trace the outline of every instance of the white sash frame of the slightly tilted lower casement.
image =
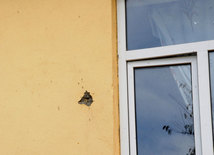
[[197,155],[201,154],[201,137],[200,137],[200,118],[198,102],[198,80],[197,80],[197,62],[196,57],[176,57],[165,59],[153,59],[143,61],[128,62],[128,114],[129,114],[129,141],[130,154],[136,155],[136,120],[135,120],[135,91],[134,91],[134,69],[141,67],[160,67],[189,64],[191,66],[192,77],[192,99],[194,111],[194,129],[195,129],[195,148]]

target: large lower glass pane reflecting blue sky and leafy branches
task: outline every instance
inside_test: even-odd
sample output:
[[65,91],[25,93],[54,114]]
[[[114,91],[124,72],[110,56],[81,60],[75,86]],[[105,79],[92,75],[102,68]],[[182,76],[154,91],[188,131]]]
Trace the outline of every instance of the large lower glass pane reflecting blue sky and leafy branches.
[[138,155],[194,155],[190,65],[136,68]]

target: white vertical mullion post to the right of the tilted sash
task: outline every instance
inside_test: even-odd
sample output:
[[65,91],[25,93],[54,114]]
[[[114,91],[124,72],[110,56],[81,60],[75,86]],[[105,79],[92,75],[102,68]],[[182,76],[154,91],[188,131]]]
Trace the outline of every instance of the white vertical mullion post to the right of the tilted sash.
[[197,52],[202,154],[213,154],[208,51]]

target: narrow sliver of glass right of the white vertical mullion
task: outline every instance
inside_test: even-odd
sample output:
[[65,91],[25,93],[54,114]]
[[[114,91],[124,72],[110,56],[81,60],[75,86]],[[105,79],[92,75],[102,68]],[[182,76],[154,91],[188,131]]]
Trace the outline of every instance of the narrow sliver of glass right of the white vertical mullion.
[[[210,58],[210,84],[211,84],[211,101],[212,101],[212,117],[214,117],[214,52],[209,53]],[[213,132],[214,132],[214,118],[213,120]],[[214,135],[213,135],[214,137]]]

